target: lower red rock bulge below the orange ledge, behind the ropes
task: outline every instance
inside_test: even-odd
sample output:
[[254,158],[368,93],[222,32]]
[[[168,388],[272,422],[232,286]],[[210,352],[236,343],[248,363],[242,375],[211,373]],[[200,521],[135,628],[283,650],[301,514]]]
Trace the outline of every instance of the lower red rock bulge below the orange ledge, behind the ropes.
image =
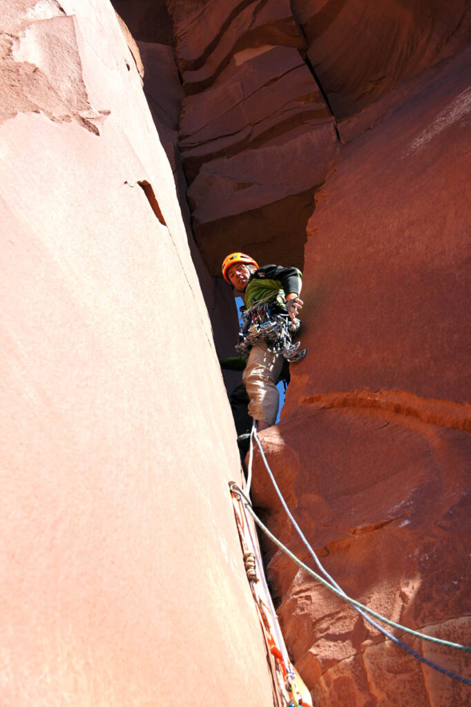
[[[303,532],[351,597],[469,645],[469,434],[407,415],[317,407],[263,441]],[[313,566],[260,464],[254,491],[272,531]],[[267,559],[281,627],[315,703],[392,706],[399,693],[412,707],[467,704],[467,686],[421,667],[284,555],[271,550]],[[465,655],[392,633],[469,677]]]

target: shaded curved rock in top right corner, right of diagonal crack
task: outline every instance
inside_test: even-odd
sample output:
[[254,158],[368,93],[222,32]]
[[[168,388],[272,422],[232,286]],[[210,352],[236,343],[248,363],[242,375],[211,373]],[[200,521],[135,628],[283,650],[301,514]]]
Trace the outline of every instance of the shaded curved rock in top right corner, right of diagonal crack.
[[292,0],[308,59],[337,119],[463,49],[468,0]]

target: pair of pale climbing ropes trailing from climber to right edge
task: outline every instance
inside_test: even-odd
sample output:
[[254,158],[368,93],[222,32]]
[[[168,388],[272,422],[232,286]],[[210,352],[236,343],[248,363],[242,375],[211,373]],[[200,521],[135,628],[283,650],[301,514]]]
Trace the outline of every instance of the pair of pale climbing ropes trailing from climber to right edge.
[[[294,555],[284,544],[282,544],[277,537],[272,534],[268,530],[268,528],[262,523],[260,518],[257,517],[255,514],[255,511],[252,509],[252,504],[250,502],[250,498],[248,498],[248,491],[247,493],[243,494],[244,498],[244,506],[246,510],[250,513],[252,518],[255,520],[257,525],[260,527],[260,529],[267,534],[267,537],[269,537],[272,542],[274,542],[277,547],[279,547],[284,553],[289,556],[294,562],[298,564],[303,570],[305,570],[310,576],[318,580],[322,585],[327,587],[331,592],[333,592],[335,595],[341,597],[345,601],[349,602],[351,606],[356,609],[356,611],[368,621],[369,624],[374,626],[378,631],[383,633],[383,635],[386,638],[389,638],[393,643],[396,645],[399,645],[401,648],[407,651],[410,655],[412,655],[414,658],[417,658],[420,662],[424,663],[425,665],[428,665],[429,667],[434,668],[434,670],[438,670],[438,672],[441,672],[443,674],[448,675],[448,677],[452,677],[455,680],[458,680],[459,682],[463,682],[464,684],[471,685],[471,680],[462,677],[461,675],[458,675],[457,673],[447,670],[446,668],[441,667],[441,665],[437,665],[435,662],[432,662],[431,660],[428,660],[427,658],[424,658],[423,655],[420,655],[417,653],[417,651],[413,650],[410,648],[409,645],[406,643],[403,643],[400,641],[399,638],[396,636],[393,636],[392,633],[389,631],[386,631],[383,626],[380,626],[379,624],[376,623],[376,621],[373,621],[371,619],[371,616],[376,617],[379,621],[382,621],[385,624],[388,624],[390,626],[394,626],[396,629],[400,629],[401,631],[405,631],[405,633],[412,634],[412,636],[415,636],[417,638],[421,638],[421,640],[424,641],[430,641],[431,643],[438,643],[440,645],[446,645],[448,648],[456,648],[458,650],[464,650],[468,653],[471,653],[471,647],[466,646],[466,645],[461,645],[460,643],[453,643],[452,641],[446,641],[441,638],[435,638],[434,636],[428,636],[426,633],[420,633],[419,631],[414,631],[412,629],[408,629],[406,626],[402,626],[401,624],[397,624],[395,621],[390,621],[390,619],[386,619],[383,617],[381,614],[378,614],[378,612],[374,612],[373,609],[369,609],[366,607],[364,604],[361,604],[361,602],[357,602],[356,600],[352,599],[349,597],[343,590],[340,588],[340,586],[335,582],[335,580],[330,576],[329,573],[325,570],[325,568],[322,566],[320,563],[318,556],[315,554],[315,551],[313,548],[310,546],[308,543],[308,540],[306,539],[305,535],[301,531],[301,528],[299,527],[298,523],[296,522],[295,518],[293,518],[293,515],[291,511],[289,510],[286,501],[284,497],[281,494],[281,491],[279,490],[279,486],[277,485],[277,482],[274,479],[274,475],[272,472],[272,469],[270,469],[269,464],[267,462],[267,458],[264,455],[264,451],[262,448],[262,444],[260,443],[260,440],[257,436],[257,431],[256,431],[256,424],[252,426],[252,431],[250,433],[250,454],[249,454],[249,464],[248,464],[248,488],[250,489],[250,481],[252,479],[252,459],[253,459],[253,440],[255,439],[258,448],[260,449],[260,454],[262,456],[262,460],[264,462],[264,466],[267,469],[267,472],[269,474],[269,477],[272,481],[272,484],[274,486],[275,491],[277,492],[277,495],[281,501],[281,505],[283,506],[284,510],[286,511],[286,514],[288,515],[289,519],[291,520],[291,523],[293,524],[293,527],[296,529],[296,532],[298,532],[299,537],[301,537],[301,540],[303,541],[303,544],[305,544],[306,548],[308,549],[310,555],[313,557],[316,565],[320,569],[321,573],[324,575],[325,578],[322,578],[318,573],[315,573],[310,567],[308,567],[305,563],[303,563],[296,555]],[[368,614],[371,614],[371,616],[368,616]]]

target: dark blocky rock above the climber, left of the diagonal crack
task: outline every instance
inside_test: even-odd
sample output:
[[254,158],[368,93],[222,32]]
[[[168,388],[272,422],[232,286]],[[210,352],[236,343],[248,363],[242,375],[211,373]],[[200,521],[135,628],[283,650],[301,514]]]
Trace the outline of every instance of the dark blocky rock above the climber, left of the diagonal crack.
[[275,262],[301,266],[313,190],[338,138],[289,1],[168,7],[187,95],[179,146],[205,262],[217,274],[224,251],[259,257],[269,244]]

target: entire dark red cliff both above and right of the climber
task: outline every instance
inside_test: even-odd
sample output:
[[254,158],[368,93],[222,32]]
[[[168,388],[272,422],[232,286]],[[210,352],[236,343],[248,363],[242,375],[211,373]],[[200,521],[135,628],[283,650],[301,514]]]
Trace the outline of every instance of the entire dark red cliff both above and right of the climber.
[[[240,248],[305,264],[308,358],[264,433],[284,493],[347,592],[469,643],[469,61],[430,68],[469,41],[469,4],[168,6],[204,261],[216,274]],[[263,473],[256,502],[307,560]],[[268,545],[267,559],[315,703],[469,701]],[[409,644],[467,670],[459,655]]]

